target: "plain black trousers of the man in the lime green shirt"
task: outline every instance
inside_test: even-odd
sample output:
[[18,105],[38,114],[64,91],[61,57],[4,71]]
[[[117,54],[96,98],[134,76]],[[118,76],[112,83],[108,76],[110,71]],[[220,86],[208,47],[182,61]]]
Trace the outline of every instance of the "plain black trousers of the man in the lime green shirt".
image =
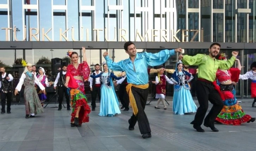
[[205,123],[208,125],[213,125],[213,122],[217,115],[220,113],[224,104],[223,101],[217,92],[214,89],[212,83],[208,83],[205,81],[196,81],[196,97],[199,102],[199,108],[196,111],[195,119],[191,124],[201,125],[203,123],[203,119],[205,118],[205,114],[208,109],[208,100],[213,104],[212,109],[208,113],[205,118]]

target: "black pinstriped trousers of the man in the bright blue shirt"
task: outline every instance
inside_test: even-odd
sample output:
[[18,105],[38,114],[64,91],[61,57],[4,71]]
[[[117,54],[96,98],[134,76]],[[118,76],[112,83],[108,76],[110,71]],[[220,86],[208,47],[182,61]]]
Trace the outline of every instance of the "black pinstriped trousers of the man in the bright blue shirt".
[[151,132],[150,125],[147,119],[147,115],[144,112],[147,96],[148,96],[148,88],[140,89],[132,87],[132,93],[136,101],[136,105],[138,108],[138,114],[135,116],[134,114],[130,118],[130,125],[135,126],[137,120],[141,134],[145,134]]

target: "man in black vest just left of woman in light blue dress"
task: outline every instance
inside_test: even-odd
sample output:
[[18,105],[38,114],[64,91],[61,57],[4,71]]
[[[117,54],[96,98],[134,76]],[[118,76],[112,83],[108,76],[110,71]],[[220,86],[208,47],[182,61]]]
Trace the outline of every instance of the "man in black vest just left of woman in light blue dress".
[[[99,70],[99,68],[100,68],[99,64],[95,64],[94,67],[95,67],[95,71],[92,72],[93,76],[96,76],[96,75],[102,73],[102,71]],[[100,100],[100,86],[101,86],[100,77],[92,78],[90,80],[90,88],[91,88],[91,93],[92,93],[92,103],[91,103],[92,111],[95,111],[97,94],[98,94],[98,97]]]

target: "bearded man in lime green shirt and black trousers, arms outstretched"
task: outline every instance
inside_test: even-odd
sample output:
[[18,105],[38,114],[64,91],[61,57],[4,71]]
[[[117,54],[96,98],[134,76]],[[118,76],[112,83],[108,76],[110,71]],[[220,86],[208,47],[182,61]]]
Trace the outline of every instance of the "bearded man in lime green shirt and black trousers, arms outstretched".
[[210,127],[212,131],[219,130],[214,127],[214,120],[223,108],[223,100],[217,90],[214,89],[213,82],[216,78],[217,69],[229,69],[234,64],[238,52],[232,51],[232,57],[227,61],[215,59],[219,54],[220,44],[213,43],[209,48],[209,55],[197,54],[195,56],[179,55],[185,65],[198,66],[198,80],[196,81],[196,97],[199,102],[195,119],[191,122],[198,132],[205,132],[201,128],[203,119],[208,109],[208,100],[213,104],[212,109],[205,118],[204,126]]

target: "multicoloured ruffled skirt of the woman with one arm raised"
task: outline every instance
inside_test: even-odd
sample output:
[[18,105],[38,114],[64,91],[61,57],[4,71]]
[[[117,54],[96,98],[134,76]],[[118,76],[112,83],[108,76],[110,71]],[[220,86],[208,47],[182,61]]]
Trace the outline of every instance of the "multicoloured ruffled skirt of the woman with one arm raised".
[[89,122],[89,113],[91,109],[87,104],[87,98],[84,94],[84,82],[80,80],[76,80],[78,83],[77,89],[70,90],[70,100],[71,100],[71,107],[73,108],[71,113],[71,122],[75,119],[75,114],[77,113],[77,109],[81,106],[79,111],[79,125],[85,122]]

